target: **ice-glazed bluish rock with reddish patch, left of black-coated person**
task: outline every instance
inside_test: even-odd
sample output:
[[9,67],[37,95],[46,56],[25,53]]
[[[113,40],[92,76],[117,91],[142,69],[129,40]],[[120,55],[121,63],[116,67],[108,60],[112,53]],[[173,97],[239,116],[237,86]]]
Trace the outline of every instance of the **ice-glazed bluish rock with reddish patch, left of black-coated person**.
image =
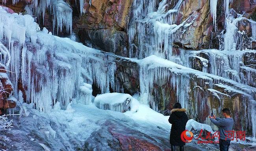
[[[94,131],[86,140],[83,151],[100,150],[102,147],[108,151],[170,151],[168,132],[164,129],[159,128],[157,130],[162,136],[155,135],[152,137],[117,120],[107,119],[106,122],[100,122],[102,122],[102,128]],[[147,131],[150,129],[148,127]],[[184,151],[201,150],[200,147],[197,148],[191,144],[184,146]],[[214,148],[211,149],[215,150]]]

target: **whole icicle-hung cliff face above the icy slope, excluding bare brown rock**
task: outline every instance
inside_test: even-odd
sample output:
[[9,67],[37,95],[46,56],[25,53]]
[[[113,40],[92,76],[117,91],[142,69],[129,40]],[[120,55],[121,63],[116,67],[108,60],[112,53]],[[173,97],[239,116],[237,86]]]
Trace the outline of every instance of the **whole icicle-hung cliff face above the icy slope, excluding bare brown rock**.
[[[85,1],[80,1],[80,4],[82,2]],[[93,13],[95,11],[93,3],[98,1],[90,2],[86,1],[86,4],[89,4],[89,11]],[[113,5],[113,9],[107,12],[122,8],[121,5],[115,7],[116,2],[121,1],[107,2],[111,7]],[[139,92],[141,97],[139,101],[155,111],[171,109],[172,104],[180,102],[188,109],[191,118],[205,123],[209,123],[207,116],[211,110],[220,115],[223,107],[229,107],[237,121],[235,127],[247,129],[249,134],[255,136],[256,124],[253,118],[256,97],[255,54],[254,51],[245,50],[248,48],[245,40],[255,40],[255,22],[232,10],[229,11],[230,0],[225,0],[224,4],[217,3],[217,6],[214,0],[210,3],[202,0],[200,5],[196,5],[197,2],[196,0],[178,0],[172,3],[162,0],[159,4],[155,0],[133,2],[131,20],[127,28],[130,49],[123,51],[127,51],[126,54],[130,54],[130,57],[144,58],[143,60],[102,53],[73,42],[69,38],[53,36],[47,29],[39,31],[38,25],[31,16],[9,14],[5,9],[0,9],[0,38],[4,45],[1,47],[1,62],[15,73],[9,75],[13,82],[14,95],[21,96],[21,92],[18,91],[20,89],[24,101],[32,103],[39,111],[48,112],[58,104],[62,109],[68,107],[68,111],[72,112],[71,101],[91,104],[92,93],[97,95],[125,92],[133,95]],[[193,41],[191,47],[195,48],[193,45],[198,43],[198,40],[203,41],[202,43],[207,41],[213,26],[201,28],[201,25],[205,25],[206,20],[208,23],[217,22],[215,16],[218,5],[223,5],[225,12],[224,29],[226,30],[217,36],[218,40],[221,39],[220,49],[224,51],[208,49],[195,53],[177,49],[177,45],[174,49],[174,42],[189,44],[194,40],[193,34],[199,39]],[[191,10],[186,11],[188,8]],[[41,19],[45,16],[46,9],[51,10],[50,13],[55,15],[54,28],[58,27],[57,32],[61,30],[71,32],[72,10],[63,0],[33,0],[30,9],[30,13],[37,14],[39,18],[41,16]],[[180,16],[181,10],[187,13]],[[83,12],[85,13],[84,10]],[[114,14],[116,15],[116,12]],[[208,15],[212,15],[213,21]],[[205,19],[204,22],[201,18]],[[93,22],[91,26],[94,23],[97,22]],[[125,26],[122,25],[121,28]],[[197,30],[200,30],[199,34]],[[110,44],[119,41],[119,34],[112,34],[111,29],[104,35],[105,31],[102,30],[100,34],[93,33],[95,34],[93,40],[100,44],[104,40],[101,42],[97,38],[107,35],[107,38],[103,37],[103,39],[111,39]],[[251,36],[250,31],[252,31]],[[182,37],[178,37],[177,33]],[[206,36],[202,38],[202,34]],[[123,39],[126,38],[125,35],[126,33]],[[102,44],[101,49],[104,49],[106,44],[109,43]],[[122,44],[119,46],[122,47]],[[112,45],[108,48],[110,47]],[[116,47],[113,47],[111,52],[115,52],[115,49]],[[114,108],[125,111],[127,106],[125,103]],[[245,116],[247,113],[248,115]]]

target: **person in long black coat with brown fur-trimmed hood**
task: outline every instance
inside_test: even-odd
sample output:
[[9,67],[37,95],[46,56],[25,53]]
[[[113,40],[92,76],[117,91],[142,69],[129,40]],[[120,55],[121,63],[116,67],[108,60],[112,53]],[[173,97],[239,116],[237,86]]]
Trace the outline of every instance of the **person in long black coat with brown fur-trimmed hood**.
[[180,103],[174,104],[174,109],[171,110],[169,117],[169,123],[172,124],[170,133],[171,150],[175,151],[175,146],[180,146],[180,151],[184,151],[184,145],[186,144],[180,138],[180,135],[186,129],[187,114],[186,109],[182,109]]

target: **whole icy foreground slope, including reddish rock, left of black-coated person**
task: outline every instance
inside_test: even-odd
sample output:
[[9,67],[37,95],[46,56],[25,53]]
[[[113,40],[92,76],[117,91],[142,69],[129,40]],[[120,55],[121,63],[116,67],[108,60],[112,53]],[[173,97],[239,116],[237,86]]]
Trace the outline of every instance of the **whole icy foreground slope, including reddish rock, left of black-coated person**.
[[[125,149],[126,145],[145,151],[150,151],[151,147],[154,151],[169,148],[169,116],[163,116],[143,104],[139,105],[136,113],[102,110],[83,104],[72,104],[70,112],[57,106],[45,114],[24,104],[30,114],[13,119],[13,130],[6,133],[12,145],[7,144],[6,147],[15,151],[115,151]],[[196,122],[193,124],[195,126]],[[185,149],[207,150],[196,142],[187,144]]]

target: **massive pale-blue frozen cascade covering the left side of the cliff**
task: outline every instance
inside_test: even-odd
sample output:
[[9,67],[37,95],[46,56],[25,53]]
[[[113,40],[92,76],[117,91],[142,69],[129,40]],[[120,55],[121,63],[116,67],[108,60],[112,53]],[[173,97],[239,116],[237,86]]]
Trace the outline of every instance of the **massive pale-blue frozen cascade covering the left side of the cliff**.
[[[102,93],[115,90],[114,56],[104,55],[69,38],[48,34],[47,29],[37,31],[38,25],[31,22],[33,18],[30,15],[7,14],[0,7],[0,18],[7,22],[1,24],[1,42],[9,45],[9,48],[1,47],[4,52],[1,62],[10,64],[9,70],[15,73],[10,74],[15,96],[19,96],[16,90],[22,82],[26,89],[26,102],[32,102],[39,111],[48,112],[56,102],[65,109],[74,98],[90,104],[90,84],[93,82],[98,84]],[[16,28],[7,30],[7,25]],[[20,29],[24,32],[17,31]]]

